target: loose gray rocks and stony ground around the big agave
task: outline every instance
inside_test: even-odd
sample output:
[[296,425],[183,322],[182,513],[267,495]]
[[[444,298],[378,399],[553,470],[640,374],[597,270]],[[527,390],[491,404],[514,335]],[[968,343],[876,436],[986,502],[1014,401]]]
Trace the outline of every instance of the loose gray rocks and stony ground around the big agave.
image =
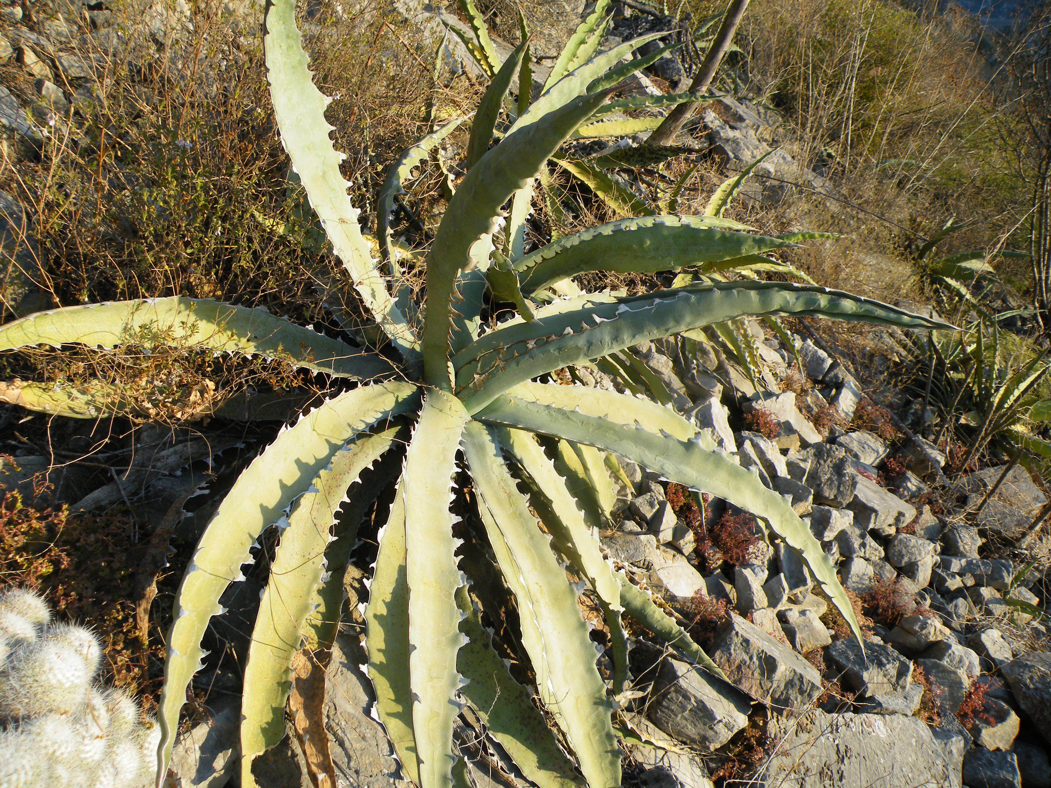
[[[91,100],[104,59],[86,62],[83,53],[116,51],[124,35],[101,3],[75,8],[71,17],[68,9],[34,15],[33,7],[0,7],[0,62],[28,75],[36,91],[0,85],[0,129],[13,159],[34,157],[48,134],[63,131],[62,118],[76,117],[70,107]],[[163,38],[184,22],[178,6],[166,8],[145,8],[150,35]],[[566,12],[575,18],[580,8]],[[654,23],[636,16],[611,35],[638,33],[633,25],[640,24]],[[674,85],[684,72],[666,60],[651,76]],[[462,62],[468,67],[469,59]],[[731,168],[780,142],[777,117],[746,99],[726,98],[702,121],[694,142]],[[784,150],[763,168],[759,173],[770,178],[746,192],[757,204],[785,199],[785,181],[829,188]],[[0,201],[4,248],[22,276],[4,279],[4,298],[22,314],[46,304],[34,285],[40,257],[22,207],[8,194]],[[869,275],[900,275],[894,265],[870,268]],[[634,683],[622,713],[626,779],[662,788],[704,788],[713,780],[771,787],[1051,786],[1051,624],[1044,616],[1051,538],[1043,523],[1049,511],[1043,481],[1022,465],[946,478],[944,453],[912,432],[924,422],[921,403],[869,374],[895,332],[870,335],[859,355],[840,352],[831,337],[791,334],[788,346],[757,324],[749,330],[763,361],[758,388],[722,354],[684,341],[632,352],[677,410],[790,501],[858,602],[864,649],[791,548],[767,543],[759,524],[723,502],[699,507],[681,489],[624,463],[615,527],[602,533],[602,545],[689,626],[728,679],[698,669],[674,647],[635,637]],[[859,369],[859,361],[871,369]],[[599,368],[572,375],[565,382],[618,386]],[[878,394],[889,396],[890,410],[873,403]],[[23,413],[6,408],[7,424]],[[57,497],[88,511],[126,500],[130,490],[157,524],[185,495],[185,480],[173,481],[177,472],[241,442],[215,433],[207,445],[193,444],[164,432],[140,436],[157,453],[138,460],[133,481],[100,483],[98,474],[70,468],[58,478]],[[6,483],[21,484],[30,498],[34,476],[55,463],[22,450],[17,464]],[[348,577],[351,600],[357,582]],[[401,781],[370,716],[356,609],[349,609],[317,724],[345,784],[380,788]],[[231,676],[206,677],[215,689],[207,701],[211,720],[177,748],[181,785],[235,784],[240,699]],[[465,712],[458,725],[459,749],[478,785],[523,784],[477,735],[478,720]],[[261,785],[310,785],[309,758],[286,740],[257,762]]]

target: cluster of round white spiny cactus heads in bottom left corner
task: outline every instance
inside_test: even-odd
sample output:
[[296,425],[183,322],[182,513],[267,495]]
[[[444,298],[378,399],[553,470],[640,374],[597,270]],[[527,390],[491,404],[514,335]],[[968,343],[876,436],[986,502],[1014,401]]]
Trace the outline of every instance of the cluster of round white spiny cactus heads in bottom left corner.
[[33,592],[0,594],[0,788],[139,788],[151,783],[160,729],[96,684],[98,639],[50,624]]

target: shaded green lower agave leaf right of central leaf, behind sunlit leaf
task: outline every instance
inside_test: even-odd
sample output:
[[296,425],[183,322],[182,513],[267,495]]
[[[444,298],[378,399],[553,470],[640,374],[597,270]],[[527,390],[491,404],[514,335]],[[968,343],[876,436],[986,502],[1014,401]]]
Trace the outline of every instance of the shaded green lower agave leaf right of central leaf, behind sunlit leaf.
[[471,604],[467,586],[456,592],[460,631],[467,643],[456,655],[456,666],[469,684],[463,696],[478,712],[488,732],[500,743],[522,774],[539,788],[579,788],[571,762],[551,733],[543,714],[526,687],[516,682],[491,645],[491,636]]

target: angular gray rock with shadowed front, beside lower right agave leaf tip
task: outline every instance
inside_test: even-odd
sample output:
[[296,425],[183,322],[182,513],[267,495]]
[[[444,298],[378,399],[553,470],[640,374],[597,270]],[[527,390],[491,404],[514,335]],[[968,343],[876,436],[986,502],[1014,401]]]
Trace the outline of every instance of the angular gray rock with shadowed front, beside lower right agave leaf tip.
[[714,750],[748,724],[751,702],[705,670],[679,660],[660,663],[646,717],[681,742]]

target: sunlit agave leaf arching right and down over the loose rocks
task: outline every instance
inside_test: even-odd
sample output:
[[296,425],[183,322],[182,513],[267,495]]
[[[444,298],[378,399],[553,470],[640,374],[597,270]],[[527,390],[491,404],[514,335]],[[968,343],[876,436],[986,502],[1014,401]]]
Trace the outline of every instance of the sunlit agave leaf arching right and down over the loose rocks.
[[671,481],[710,493],[762,517],[774,533],[803,556],[813,577],[850,624],[858,642],[863,643],[850,600],[821,542],[778,493],[763,486],[755,472],[741,468],[725,453],[708,451],[699,441],[678,440],[638,427],[613,426],[602,418],[509,396],[497,397],[476,418],[614,452]]

